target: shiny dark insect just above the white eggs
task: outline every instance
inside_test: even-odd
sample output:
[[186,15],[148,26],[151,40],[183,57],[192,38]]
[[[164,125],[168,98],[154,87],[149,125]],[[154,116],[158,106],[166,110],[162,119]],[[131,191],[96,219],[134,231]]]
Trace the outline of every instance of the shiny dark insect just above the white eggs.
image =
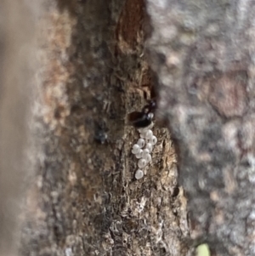
[[147,105],[144,105],[142,111],[133,111],[128,114],[128,121],[135,128],[146,128],[153,120],[156,111],[156,95],[154,88],[151,88],[150,96],[152,100],[150,100]]

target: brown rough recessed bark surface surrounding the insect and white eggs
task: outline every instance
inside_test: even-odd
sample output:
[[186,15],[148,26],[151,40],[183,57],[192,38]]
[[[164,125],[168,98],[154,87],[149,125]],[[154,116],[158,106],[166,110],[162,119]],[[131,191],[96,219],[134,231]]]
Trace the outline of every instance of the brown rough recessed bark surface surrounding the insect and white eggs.
[[185,253],[186,202],[167,128],[155,126],[153,161],[134,179],[139,134],[126,117],[141,110],[154,83],[144,2],[50,0],[39,10],[35,167],[20,253]]

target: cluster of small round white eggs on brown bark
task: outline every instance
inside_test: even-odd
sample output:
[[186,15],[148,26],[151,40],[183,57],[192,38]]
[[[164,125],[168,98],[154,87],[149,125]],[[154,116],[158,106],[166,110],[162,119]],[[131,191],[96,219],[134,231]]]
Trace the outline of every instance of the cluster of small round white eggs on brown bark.
[[142,179],[144,177],[143,168],[151,162],[151,152],[153,146],[156,145],[157,139],[153,135],[150,128],[140,128],[139,129],[140,138],[136,144],[133,145],[132,153],[138,161],[138,170],[136,171],[134,177],[135,179]]

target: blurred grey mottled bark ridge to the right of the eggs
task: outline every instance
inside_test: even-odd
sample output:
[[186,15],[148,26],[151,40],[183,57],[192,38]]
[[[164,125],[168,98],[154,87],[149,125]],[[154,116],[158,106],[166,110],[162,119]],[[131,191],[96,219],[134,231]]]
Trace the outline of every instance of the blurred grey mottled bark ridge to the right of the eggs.
[[191,237],[213,255],[255,255],[254,1],[147,0],[147,9]]

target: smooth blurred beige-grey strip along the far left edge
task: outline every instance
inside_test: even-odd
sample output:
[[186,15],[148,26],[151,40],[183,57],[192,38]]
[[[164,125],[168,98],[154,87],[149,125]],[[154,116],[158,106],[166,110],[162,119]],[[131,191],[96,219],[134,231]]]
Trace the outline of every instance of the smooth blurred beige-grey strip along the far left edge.
[[[21,1],[0,9],[0,255],[17,255],[31,120],[34,16]],[[24,178],[25,177],[25,178]]]

